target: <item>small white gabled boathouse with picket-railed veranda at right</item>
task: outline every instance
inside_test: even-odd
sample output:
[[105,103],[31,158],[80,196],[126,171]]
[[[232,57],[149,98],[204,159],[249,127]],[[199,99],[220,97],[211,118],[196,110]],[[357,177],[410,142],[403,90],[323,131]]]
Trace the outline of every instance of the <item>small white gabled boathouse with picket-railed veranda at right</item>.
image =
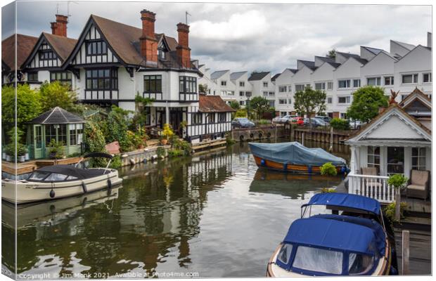
[[348,192],[392,202],[396,190],[387,185],[388,176],[411,178],[413,170],[431,173],[431,110],[430,98],[416,88],[345,141],[351,148]]

